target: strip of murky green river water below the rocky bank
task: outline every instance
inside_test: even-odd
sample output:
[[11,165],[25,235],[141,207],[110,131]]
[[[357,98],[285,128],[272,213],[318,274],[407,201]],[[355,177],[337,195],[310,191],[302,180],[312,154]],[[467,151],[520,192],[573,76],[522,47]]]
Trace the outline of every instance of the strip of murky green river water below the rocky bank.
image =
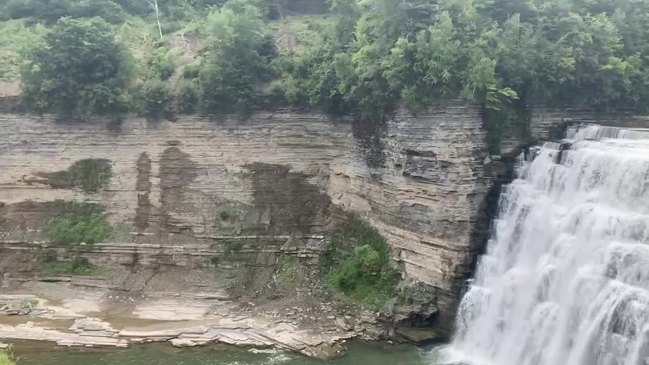
[[129,349],[58,349],[15,344],[17,365],[432,365],[430,349],[354,342],[335,360],[309,359],[284,351],[209,346],[177,349],[163,344]]

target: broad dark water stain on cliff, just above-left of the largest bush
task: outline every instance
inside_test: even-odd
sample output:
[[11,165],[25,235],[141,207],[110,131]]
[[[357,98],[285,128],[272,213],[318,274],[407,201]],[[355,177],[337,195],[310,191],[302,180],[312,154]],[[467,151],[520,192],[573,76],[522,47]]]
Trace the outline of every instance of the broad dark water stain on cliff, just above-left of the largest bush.
[[290,171],[290,166],[255,162],[252,199],[257,220],[275,234],[311,233],[324,225],[330,198],[308,181],[308,175]]

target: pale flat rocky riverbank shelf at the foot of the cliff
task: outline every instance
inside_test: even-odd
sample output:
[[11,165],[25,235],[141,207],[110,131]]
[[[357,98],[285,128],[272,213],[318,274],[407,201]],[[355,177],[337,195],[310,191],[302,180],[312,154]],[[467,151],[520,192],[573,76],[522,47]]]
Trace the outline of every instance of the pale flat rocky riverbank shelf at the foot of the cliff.
[[389,331],[379,312],[336,309],[328,302],[80,289],[75,281],[88,278],[47,279],[0,295],[0,340],[82,347],[219,342],[329,359],[344,351],[349,338],[381,338]]

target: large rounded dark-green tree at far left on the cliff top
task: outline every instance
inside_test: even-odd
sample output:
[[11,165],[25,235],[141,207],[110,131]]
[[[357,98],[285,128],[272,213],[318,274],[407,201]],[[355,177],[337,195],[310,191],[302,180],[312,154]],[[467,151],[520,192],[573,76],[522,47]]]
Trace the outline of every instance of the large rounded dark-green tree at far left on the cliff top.
[[60,19],[27,57],[21,72],[27,108],[81,116],[125,110],[128,56],[102,19]]

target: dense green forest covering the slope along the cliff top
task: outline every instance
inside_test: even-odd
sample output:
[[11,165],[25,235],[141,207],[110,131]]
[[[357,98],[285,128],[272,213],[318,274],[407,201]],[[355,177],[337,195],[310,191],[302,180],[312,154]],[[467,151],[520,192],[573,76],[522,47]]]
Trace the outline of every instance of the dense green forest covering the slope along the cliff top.
[[0,0],[0,79],[20,82],[28,110],[151,118],[311,107],[380,119],[459,97],[497,131],[533,105],[644,112],[648,5]]

